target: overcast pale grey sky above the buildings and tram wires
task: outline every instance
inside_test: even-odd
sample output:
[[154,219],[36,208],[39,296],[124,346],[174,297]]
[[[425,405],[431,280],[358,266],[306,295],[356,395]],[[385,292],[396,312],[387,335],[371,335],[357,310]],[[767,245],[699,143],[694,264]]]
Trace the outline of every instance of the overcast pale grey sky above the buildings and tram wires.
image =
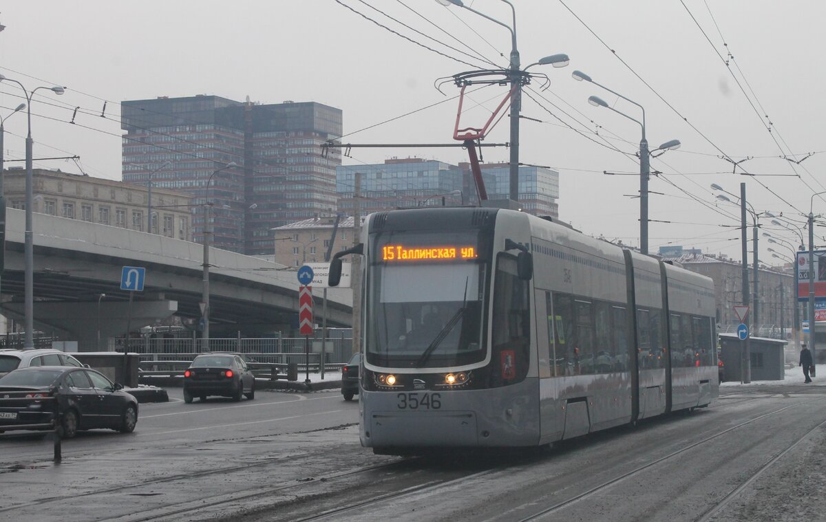
[[[641,112],[575,81],[575,69],[645,107],[652,148],[682,142],[681,149],[652,160],[652,169],[662,171],[650,183],[651,191],[662,192],[650,197],[653,252],[682,244],[740,259],[739,231],[731,226],[739,223],[738,208],[715,200],[711,183],[739,194],[739,183],[746,182],[756,211],[783,212],[796,221],[808,214],[814,192],[826,191],[826,2],[513,3],[523,66],[545,55],[571,57],[565,69],[531,69],[546,73],[550,84],[542,91],[534,79],[525,96],[523,116],[539,121],[521,121],[520,160],[558,169],[560,216],[586,234],[638,244],[639,200],[629,196],[638,194],[639,178],[603,171],[638,173],[633,154],[640,139],[636,123],[591,107],[587,97],[597,95],[636,119]],[[511,25],[501,0],[466,5]],[[448,143],[458,88],[446,83],[442,94],[434,82],[494,67],[480,55],[506,67],[511,47],[505,27],[435,0],[10,0],[2,4],[0,24],[6,26],[0,74],[30,90],[67,89],[62,97],[36,94],[35,157],[78,154],[86,173],[113,179],[121,178],[123,100],[215,94],[262,103],[314,101],[344,111],[344,142]],[[21,102],[20,93],[0,83],[3,116]],[[469,95],[466,107],[476,108],[463,115],[463,124],[481,125],[504,93],[492,87]],[[80,109],[71,125],[74,107]],[[508,125],[506,117],[487,141],[506,142]],[[6,131],[6,159],[23,159],[26,118],[12,117]],[[800,161],[809,153],[800,164],[783,159]],[[353,149],[344,164],[411,155],[467,160],[463,149]],[[719,156],[751,159],[735,174]],[[488,162],[508,158],[505,148],[483,152]],[[80,172],[71,161],[36,166]],[[743,168],[755,176],[742,175]],[[814,212],[826,213],[819,197]],[[799,242],[769,221],[762,223],[771,234]],[[760,246],[766,261],[777,261],[768,247],[787,252],[766,238]]]

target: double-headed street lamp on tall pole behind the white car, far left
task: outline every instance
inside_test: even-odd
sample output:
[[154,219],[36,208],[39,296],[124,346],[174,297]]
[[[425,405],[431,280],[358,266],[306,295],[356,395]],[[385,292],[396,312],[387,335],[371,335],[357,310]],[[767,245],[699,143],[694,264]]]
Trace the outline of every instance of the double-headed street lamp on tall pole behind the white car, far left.
[[49,89],[52,93],[55,94],[63,94],[64,88],[60,87],[59,85],[55,85],[55,87],[36,87],[31,91],[26,91],[26,87],[23,86],[22,83],[18,82],[17,80],[12,80],[11,78],[6,78],[2,74],[0,74],[0,82],[2,81],[9,81],[12,83],[17,83],[21,89],[23,89],[23,95],[26,97],[26,113],[28,116],[28,133],[26,134],[26,244],[24,247],[24,257],[26,259],[26,273],[24,279],[24,286],[25,286],[25,308],[24,308],[24,315],[26,316],[26,339],[23,342],[23,349],[33,349],[35,347],[33,333],[35,330],[35,313],[34,313],[34,274],[35,274],[35,258],[34,258],[34,235],[32,233],[32,209],[31,207],[34,205],[34,183],[32,179],[34,178],[34,173],[32,173],[32,145],[34,141],[31,140],[31,97],[35,95],[35,93],[40,89]]

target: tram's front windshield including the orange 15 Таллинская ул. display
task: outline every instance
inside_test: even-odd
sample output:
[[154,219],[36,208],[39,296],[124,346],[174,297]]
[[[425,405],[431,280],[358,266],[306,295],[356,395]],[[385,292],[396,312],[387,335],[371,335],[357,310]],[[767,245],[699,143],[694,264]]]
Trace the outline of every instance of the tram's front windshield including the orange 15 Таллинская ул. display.
[[477,259],[475,236],[451,236],[396,234],[377,241],[368,362],[437,368],[485,358],[480,339],[487,265]]

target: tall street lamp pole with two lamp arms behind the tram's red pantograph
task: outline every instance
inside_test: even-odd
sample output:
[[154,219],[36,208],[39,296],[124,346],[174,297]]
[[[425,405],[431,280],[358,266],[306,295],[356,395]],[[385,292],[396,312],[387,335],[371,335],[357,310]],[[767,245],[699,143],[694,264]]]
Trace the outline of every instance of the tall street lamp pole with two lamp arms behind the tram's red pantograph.
[[496,20],[496,18],[488,17],[483,12],[478,12],[476,9],[472,7],[468,7],[464,5],[462,0],[436,0],[443,6],[458,6],[467,9],[470,12],[474,12],[482,18],[492,21],[493,23],[499,24],[500,26],[505,27],[508,31],[510,31],[510,67],[508,69],[508,76],[510,77],[510,199],[512,201],[519,201],[519,120],[520,120],[520,108],[522,104],[522,85],[527,83],[527,78],[529,78],[529,74],[526,74],[525,71],[531,67],[532,65],[553,65],[553,67],[565,67],[570,59],[567,55],[559,54],[559,55],[551,55],[546,56],[543,59],[539,59],[539,61],[535,62],[534,64],[530,64],[524,70],[520,70],[520,56],[519,50],[516,49],[516,9],[514,5],[510,3],[508,0],[501,0],[510,6],[510,12],[513,15],[513,22],[512,28],[501,21]]

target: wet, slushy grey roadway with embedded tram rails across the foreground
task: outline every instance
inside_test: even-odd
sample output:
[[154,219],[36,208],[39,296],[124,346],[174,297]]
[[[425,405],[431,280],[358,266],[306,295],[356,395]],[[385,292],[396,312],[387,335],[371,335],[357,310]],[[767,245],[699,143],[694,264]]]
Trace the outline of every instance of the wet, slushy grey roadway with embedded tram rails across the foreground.
[[826,387],[724,393],[494,458],[375,456],[335,391],[141,406],[135,434],[80,434],[60,468],[37,438],[0,438],[0,471],[18,469],[0,472],[0,520],[818,520],[798,510],[826,510]]

